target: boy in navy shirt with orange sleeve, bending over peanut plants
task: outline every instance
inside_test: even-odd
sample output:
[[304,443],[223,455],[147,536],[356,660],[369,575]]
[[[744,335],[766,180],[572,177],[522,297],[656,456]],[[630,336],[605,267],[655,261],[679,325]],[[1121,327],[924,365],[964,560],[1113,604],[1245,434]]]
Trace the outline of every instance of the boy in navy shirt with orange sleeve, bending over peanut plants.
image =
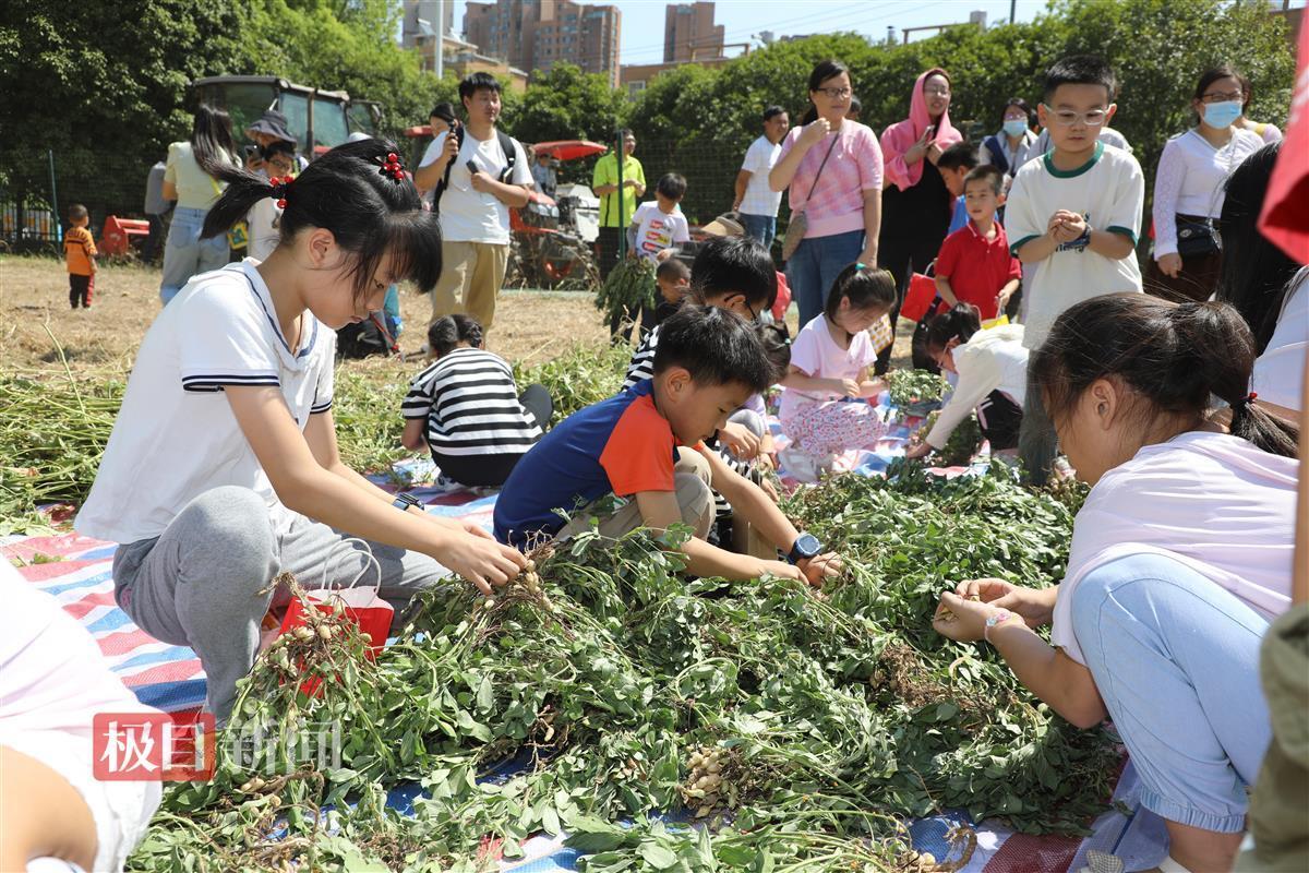
[[[814,537],[798,533],[768,495],[703,444],[772,380],[763,346],[742,318],[683,305],[661,327],[653,378],[568,416],[514,467],[496,501],[496,539],[528,548],[589,530],[593,520],[611,538],[683,522],[695,534],[681,546],[689,573],[821,584],[839,571],[839,559],[821,554]],[[788,563],[709,544],[711,486]]]

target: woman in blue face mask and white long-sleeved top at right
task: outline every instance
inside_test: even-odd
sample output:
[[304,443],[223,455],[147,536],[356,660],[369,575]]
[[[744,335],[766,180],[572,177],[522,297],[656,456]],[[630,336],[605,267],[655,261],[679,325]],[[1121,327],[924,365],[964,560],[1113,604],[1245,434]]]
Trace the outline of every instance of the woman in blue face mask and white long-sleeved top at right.
[[1208,300],[1223,270],[1219,216],[1224,185],[1263,141],[1237,124],[1244,90],[1230,67],[1195,86],[1199,124],[1164,145],[1155,174],[1155,259],[1145,289],[1175,300]]

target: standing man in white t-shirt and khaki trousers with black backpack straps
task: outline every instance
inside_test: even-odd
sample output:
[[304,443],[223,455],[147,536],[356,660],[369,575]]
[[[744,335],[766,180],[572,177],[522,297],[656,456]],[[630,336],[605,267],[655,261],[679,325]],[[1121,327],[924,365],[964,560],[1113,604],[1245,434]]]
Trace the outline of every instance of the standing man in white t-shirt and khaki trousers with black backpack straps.
[[496,130],[500,82],[495,76],[467,76],[459,82],[459,99],[467,123],[432,141],[414,182],[420,191],[431,191],[448,179],[432,321],[461,312],[490,330],[509,259],[509,209],[526,205],[531,170],[522,145]]

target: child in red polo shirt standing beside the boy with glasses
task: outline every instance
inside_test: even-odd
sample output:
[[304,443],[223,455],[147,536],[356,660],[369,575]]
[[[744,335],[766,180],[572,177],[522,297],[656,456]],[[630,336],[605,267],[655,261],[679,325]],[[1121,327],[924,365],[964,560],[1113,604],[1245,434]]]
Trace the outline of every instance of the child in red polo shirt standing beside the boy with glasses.
[[941,243],[936,257],[936,292],[946,306],[973,304],[987,322],[997,318],[1018,289],[1022,267],[1009,253],[1009,238],[995,220],[1004,203],[1004,174],[991,165],[963,177],[969,223]]

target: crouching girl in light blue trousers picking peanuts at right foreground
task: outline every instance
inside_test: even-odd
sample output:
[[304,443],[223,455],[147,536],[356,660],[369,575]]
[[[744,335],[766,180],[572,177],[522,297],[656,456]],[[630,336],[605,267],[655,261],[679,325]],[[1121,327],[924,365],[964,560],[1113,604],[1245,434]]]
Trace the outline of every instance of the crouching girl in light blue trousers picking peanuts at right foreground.
[[[1168,826],[1165,872],[1232,869],[1271,736],[1258,650],[1291,606],[1297,435],[1250,394],[1253,365],[1225,304],[1126,293],[1069,308],[1029,382],[1092,486],[1063,584],[962,582],[933,619],[987,639],[1073,724],[1113,719],[1141,804]],[[1033,630],[1046,623],[1052,647]]]

